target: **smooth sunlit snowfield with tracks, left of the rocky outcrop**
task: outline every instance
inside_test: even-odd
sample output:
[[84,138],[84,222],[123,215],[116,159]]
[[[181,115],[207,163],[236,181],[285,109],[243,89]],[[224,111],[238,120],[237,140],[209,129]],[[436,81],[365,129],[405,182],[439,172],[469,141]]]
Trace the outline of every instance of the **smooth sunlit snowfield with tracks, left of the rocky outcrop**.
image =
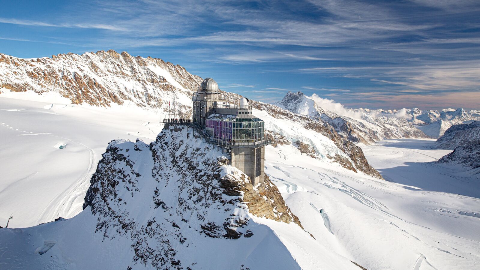
[[127,101],[99,108],[46,95],[0,95],[0,221],[13,213],[12,227],[78,214],[108,142],[149,142],[163,127],[161,113]]

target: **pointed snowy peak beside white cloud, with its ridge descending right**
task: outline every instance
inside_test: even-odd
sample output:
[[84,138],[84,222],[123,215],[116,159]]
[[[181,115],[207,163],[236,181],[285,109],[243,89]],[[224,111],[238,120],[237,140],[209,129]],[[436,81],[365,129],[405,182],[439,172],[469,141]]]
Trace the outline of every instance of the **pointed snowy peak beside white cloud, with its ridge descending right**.
[[353,110],[351,114],[356,115],[356,118],[340,116],[332,111],[324,110],[302,92],[288,92],[276,105],[294,113],[324,121],[333,126],[339,135],[352,142],[369,144],[382,139],[427,137],[403,118],[373,117],[366,112],[357,111],[355,113]]

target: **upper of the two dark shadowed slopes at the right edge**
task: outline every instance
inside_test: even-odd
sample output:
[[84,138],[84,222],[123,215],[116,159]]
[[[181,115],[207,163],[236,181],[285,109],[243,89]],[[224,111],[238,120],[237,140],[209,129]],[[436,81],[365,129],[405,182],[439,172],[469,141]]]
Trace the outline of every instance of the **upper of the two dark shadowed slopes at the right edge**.
[[480,121],[450,126],[435,142],[436,148],[454,149],[480,142]]

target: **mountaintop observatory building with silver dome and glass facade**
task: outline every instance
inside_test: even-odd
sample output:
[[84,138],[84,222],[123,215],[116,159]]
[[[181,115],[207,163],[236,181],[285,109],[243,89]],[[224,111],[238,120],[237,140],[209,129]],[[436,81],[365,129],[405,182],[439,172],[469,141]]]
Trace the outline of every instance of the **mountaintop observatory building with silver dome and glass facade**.
[[230,153],[231,165],[247,174],[253,186],[264,183],[264,121],[252,114],[248,98],[239,104],[223,100],[216,81],[206,78],[193,93],[193,122],[199,123],[210,140]]

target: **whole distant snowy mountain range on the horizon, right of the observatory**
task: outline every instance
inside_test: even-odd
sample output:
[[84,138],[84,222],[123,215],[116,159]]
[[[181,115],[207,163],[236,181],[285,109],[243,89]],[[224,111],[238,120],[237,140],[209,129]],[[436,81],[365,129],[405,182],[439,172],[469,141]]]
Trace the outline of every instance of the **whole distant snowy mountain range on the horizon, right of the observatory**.
[[[333,101],[332,101],[333,102]],[[479,110],[328,110],[302,92],[288,92],[275,103],[286,110],[324,121],[342,137],[358,143],[370,144],[383,139],[438,138],[454,124],[480,120]],[[334,103],[340,105],[340,103]]]

